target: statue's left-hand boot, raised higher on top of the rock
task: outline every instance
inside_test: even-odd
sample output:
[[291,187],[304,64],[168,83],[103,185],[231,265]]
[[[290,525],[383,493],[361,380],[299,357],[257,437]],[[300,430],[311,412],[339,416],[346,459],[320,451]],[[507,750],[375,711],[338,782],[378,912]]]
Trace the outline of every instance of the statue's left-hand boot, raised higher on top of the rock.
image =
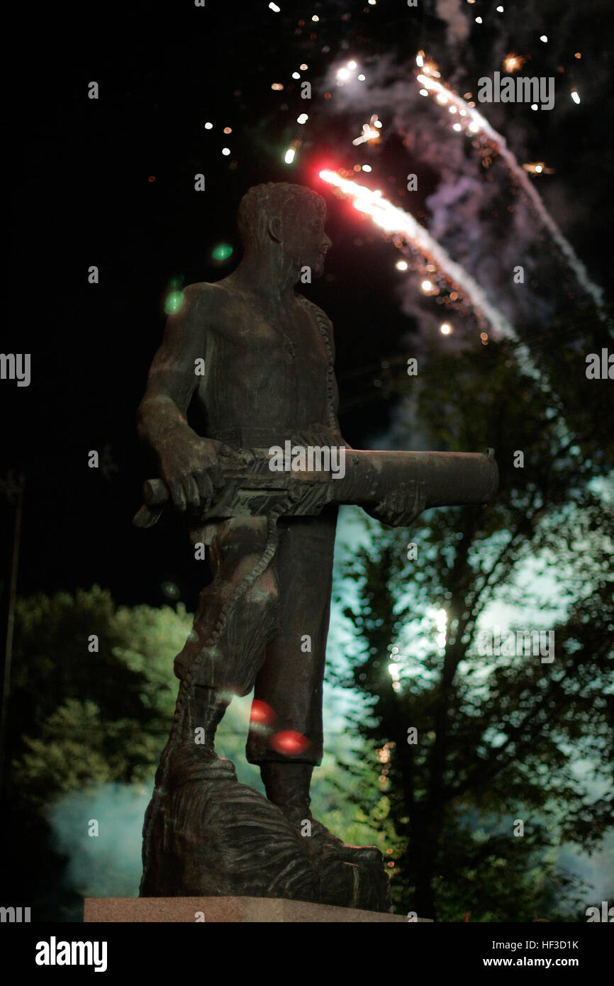
[[[184,690],[184,696],[181,690]],[[177,702],[182,700],[180,738],[170,750],[171,786],[236,779],[235,764],[219,757],[214,744],[216,729],[230,704],[229,697],[215,688],[189,687],[181,682]]]

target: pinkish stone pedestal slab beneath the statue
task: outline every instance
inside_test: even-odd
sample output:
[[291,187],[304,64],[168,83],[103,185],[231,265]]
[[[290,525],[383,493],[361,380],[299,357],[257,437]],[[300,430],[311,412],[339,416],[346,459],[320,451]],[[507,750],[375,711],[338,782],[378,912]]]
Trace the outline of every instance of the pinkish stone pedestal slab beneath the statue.
[[[402,914],[331,907],[280,897],[86,897],[84,921],[89,922],[183,922],[197,924],[356,924],[396,921],[411,924]],[[422,924],[432,922],[418,918]]]

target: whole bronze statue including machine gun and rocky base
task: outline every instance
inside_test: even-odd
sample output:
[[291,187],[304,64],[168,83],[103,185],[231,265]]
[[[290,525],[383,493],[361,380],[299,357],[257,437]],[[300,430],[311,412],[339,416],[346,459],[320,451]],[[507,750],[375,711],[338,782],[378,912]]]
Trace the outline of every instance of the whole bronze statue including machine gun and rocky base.
[[[179,693],[146,815],[142,895],[389,907],[378,850],[344,845],[309,811],[337,505],[408,526],[425,506],[486,502],[497,472],[490,455],[358,452],[344,441],[332,325],[296,289],[306,268],[323,272],[324,215],[324,200],[301,185],[247,191],[243,258],[223,280],[185,289],[139,407],[162,478],[146,484],[135,523],[150,526],[171,501],[207,546],[213,575],[174,663]],[[206,414],[206,438],[188,424],[191,401]],[[214,746],[232,696],[252,688],[246,755],[268,801]]]

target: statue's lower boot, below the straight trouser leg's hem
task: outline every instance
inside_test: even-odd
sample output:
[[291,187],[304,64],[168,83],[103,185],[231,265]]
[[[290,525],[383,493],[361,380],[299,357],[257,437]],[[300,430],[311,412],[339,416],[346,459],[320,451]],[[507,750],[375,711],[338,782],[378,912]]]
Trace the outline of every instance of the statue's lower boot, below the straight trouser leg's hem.
[[383,857],[376,846],[347,846],[312,816],[309,810],[312,771],[310,763],[260,764],[267,798],[284,812],[298,834],[303,836],[310,856],[326,855],[344,863],[375,863],[381,866]]

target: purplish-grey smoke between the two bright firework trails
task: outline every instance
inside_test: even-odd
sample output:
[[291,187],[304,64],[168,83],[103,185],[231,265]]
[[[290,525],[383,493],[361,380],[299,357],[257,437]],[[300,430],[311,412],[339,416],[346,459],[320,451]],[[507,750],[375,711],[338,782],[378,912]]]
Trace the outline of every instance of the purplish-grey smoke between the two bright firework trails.
[[[448,38],[460,36],[463,30],[466,35],[466,21],[458,4],[442,2],[438,13],[447,23]],[[361,66],[364,81],[352,78],[339,85],[338,65],[333,65],[325,80],[326,89],[336,89],[331,108],[348,119],[352,117],[352,133],[360,132],[373,113],[382,120],[381,139],[376,148],[366,152],[371,154],[369,160],[377,182],[383,184],[389,174],[383,163],[386,141],[402,139],[407,174],[419,176],[419,189],[395,204],[409,208],[414,215],[417,206],[424,207],[427,218],[420,221],[433,238],[469,272],[490,304],[528,340],[535,329],[567,311],[570,297],[574,293],[581,295],[582,289],[587,291],[590,282],[583,276],[580,262],[572,264],[575,274],[570,269],[568,261],[573,253],[567,251],[567,260],[562,255],[562,237],[554,238],[559,249],[553,246],[552,230],[557,229],[554,221],[541,203],[540,209],[536,207],[539,199],[534,180],[517,166],[511,167],[512,153],[505,148],[505,153],[494,153],[492,160],[485,158],[477,146],[478,138],[472,140],[466,133],[454,132],[454,117],[449,116],[447,107],[420,95],[414,67],[413,57],[401,63],[387,55],[367,60]],[[462,85],[466,87],[467,81]],[[521,109],[530,112],[528,106]],[[501,106],[488,106],[488,112],[497,117],[494,126],[509,124],[511,140],[519,145],[517,153],[523,160],[523,145],[528,141],[525,128],[518,121],[520,117],[516,114],[511,119],[499,119]],[[404,176],[400,177],[404,181]],[[426,195],[421,194],[420,183]],[[519,267],[522,271],[517,275]],[[518,276],[521,283],[514,280]],[[417,276],[408,273],[399,292],[404,314],[418,317],[423,326],[437,331],[443,310],[433,299],[423,297]],[[592,291],[588,293],[593,295]],[[454,315],[454,327],[459,329],[462,319],[458,310],[450,310],[445,317]],[[466,320],[463,334],[475,339],[473,319]],[[458,336],[456,339],[460,341]]]

